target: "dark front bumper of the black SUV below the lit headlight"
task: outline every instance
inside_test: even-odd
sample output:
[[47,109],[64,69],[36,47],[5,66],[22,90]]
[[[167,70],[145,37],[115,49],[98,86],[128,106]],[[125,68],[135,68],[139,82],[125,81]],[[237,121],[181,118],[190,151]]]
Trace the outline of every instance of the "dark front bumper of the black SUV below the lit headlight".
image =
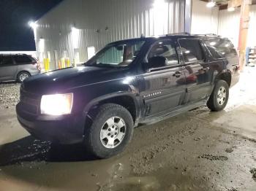
[[20,125],[37,139],[59,144],[75,144],[83,141],[85,120],[82,115],[33,115],[23,111],[19,103],[16,113]]

